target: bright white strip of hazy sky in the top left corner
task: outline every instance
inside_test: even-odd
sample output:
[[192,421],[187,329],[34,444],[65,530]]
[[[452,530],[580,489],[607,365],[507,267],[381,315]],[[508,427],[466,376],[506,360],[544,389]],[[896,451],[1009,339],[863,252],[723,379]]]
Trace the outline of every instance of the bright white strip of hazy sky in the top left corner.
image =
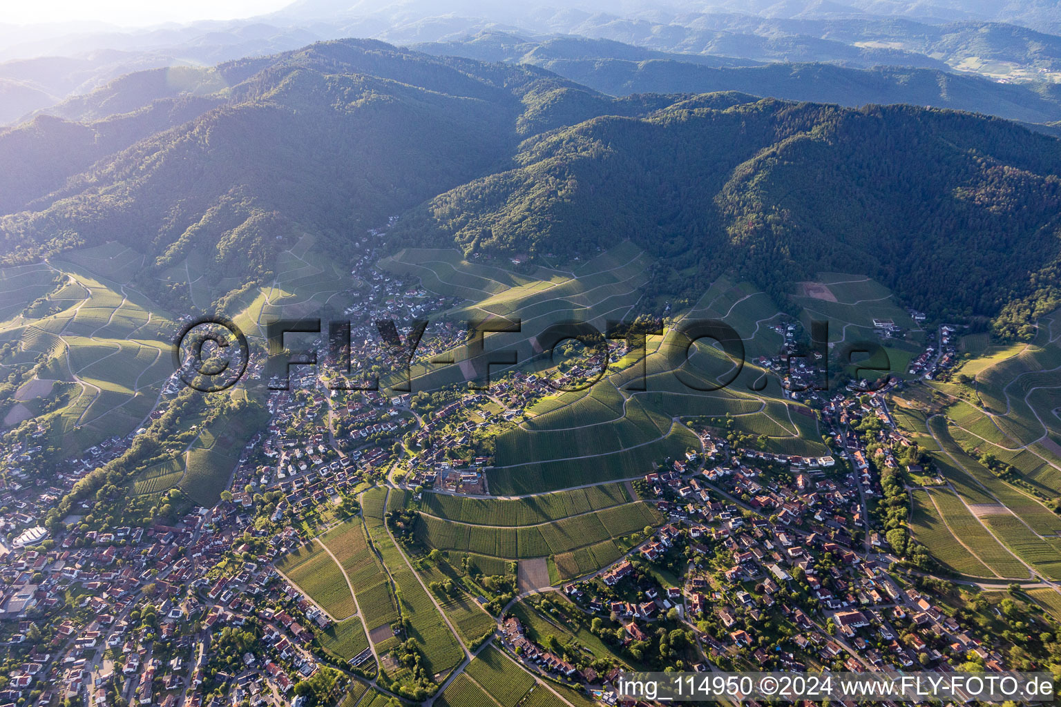
[[122,25],[262,15],[291,0],[0,0],[0,23],[95,20]]

